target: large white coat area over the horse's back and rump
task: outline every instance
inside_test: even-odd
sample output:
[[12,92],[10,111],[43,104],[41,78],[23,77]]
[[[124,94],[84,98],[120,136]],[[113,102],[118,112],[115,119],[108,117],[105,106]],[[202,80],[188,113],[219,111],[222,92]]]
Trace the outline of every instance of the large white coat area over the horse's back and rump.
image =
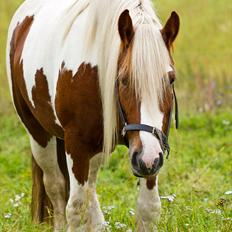
[[[76,6],[73,5],[74,2],[77,2]],[[83,21],[86,14],[78,16],[80,20],[76,24],[77,16],[72,11],[84,5],[80,3],[78,6],[78,2],[80,1],[25,1],[12,20],[8,37],[8,54],[10,53],[10,41],[18,23],[22,23],[28,16],[33,17],[21,56],[26,87],[31,101],[31,89],[35,84],[36,70],[43,68],[49,82],[50,95],[53,98],[61,64],[65,62],[69,69],[77,69],[81,63],[80,54],[85,25]]]

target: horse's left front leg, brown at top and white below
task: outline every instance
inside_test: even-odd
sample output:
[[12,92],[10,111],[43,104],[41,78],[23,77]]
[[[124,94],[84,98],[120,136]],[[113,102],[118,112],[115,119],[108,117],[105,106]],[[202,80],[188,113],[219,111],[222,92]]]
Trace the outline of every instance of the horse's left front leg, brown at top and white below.
[[70,178],[70,195],[66,207],[69,232],[100,231],[104,217],[96,194],[97,172],[102,155],[89,158],[91,147],[78,141],[78,136],[66,136],[66,158]]

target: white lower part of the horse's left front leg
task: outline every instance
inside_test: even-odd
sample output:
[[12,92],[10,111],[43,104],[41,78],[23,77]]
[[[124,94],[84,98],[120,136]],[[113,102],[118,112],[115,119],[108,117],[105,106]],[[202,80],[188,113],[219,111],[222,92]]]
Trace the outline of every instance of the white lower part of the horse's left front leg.
[[73,173],[71,156],[66,156],[70,178],[70,196],[66,208],[68,231],[98,232],[104,225],[104,216],[96,193],[97,173],[102,159],[103,155],[98,154],[90,160],[88,182],[83,186],[78,183]]

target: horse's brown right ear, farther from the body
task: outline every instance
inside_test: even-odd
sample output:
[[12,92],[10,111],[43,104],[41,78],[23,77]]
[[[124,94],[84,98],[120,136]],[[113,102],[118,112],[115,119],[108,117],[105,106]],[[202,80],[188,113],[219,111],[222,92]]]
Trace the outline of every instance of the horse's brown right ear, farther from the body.
[[180,18],[179,15],[173,11],[170,18],[166,22],[164,28],[161,30],[164,42],[170,50],[174,40],[176,39],[180,28]]

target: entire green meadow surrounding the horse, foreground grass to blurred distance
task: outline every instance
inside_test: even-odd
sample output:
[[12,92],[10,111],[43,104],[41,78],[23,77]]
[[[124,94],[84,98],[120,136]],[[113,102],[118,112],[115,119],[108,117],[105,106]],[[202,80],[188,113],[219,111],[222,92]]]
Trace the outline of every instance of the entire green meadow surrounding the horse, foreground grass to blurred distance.
[[[31,223],[31,153],[5,73],[9,20],[21,0],[0,1],[0,232],[51,231]],[[163,22],[181,16],[174,58],[180,130],[159,177],[161,232],[232,231],[232,5],[229,0],[155,0]],[[230,48],[230,49],[229,49]],[[108,231],[134,231],[137,179],[118,146],[101,169],[98,194]],[[171,199],[172,200],[172,199]]]

